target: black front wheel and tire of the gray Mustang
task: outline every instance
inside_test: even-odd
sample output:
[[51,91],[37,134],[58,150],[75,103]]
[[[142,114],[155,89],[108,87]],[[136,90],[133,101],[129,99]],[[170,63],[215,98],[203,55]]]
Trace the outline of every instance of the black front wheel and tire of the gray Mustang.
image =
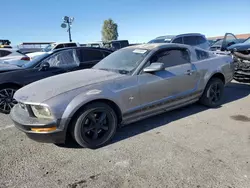
[[71,134],[82,147],[98,148],[114,136],[117,115],[107,104],[96,102],[86,105],[73,119]]

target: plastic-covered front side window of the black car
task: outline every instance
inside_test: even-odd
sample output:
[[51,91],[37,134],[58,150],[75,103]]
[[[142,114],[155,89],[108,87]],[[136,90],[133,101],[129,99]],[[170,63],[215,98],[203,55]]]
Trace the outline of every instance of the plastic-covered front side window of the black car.
[[75,50],[60,51],[45,59],[43,62],[48,62],[50,67],[71,67],[79,66],[80,64]]

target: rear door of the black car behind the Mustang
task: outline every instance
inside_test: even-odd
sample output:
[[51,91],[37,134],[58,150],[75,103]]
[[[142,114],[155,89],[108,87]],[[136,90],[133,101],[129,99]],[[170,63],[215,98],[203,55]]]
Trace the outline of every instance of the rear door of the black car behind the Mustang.
[[80,69],[92,68],[105,56],[99,49],[79,48],[77,56],[80,61]]

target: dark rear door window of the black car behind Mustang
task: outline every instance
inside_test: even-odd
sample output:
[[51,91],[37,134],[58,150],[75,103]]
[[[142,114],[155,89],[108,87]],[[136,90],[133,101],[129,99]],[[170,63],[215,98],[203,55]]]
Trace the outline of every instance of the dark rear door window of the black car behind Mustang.
[[103,54],[99,50],[80,49],[77,51],[80,62],[95,61],[103,59]]

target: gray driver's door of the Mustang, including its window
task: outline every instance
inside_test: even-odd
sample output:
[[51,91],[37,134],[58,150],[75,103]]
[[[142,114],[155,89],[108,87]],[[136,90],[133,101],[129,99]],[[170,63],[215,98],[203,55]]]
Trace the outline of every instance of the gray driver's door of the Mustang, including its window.
[[[196,91],[198,73],[190,62],[186,48],[171,48],[156,52],[146,66],[164,63],[164,70],[154,73],[141,72],[138,76],[142,106],[165,105],[167,101],[183,99]],[[145,66],[145,67],[146,67]],[[171,105],[171,102],[169,103]]]

